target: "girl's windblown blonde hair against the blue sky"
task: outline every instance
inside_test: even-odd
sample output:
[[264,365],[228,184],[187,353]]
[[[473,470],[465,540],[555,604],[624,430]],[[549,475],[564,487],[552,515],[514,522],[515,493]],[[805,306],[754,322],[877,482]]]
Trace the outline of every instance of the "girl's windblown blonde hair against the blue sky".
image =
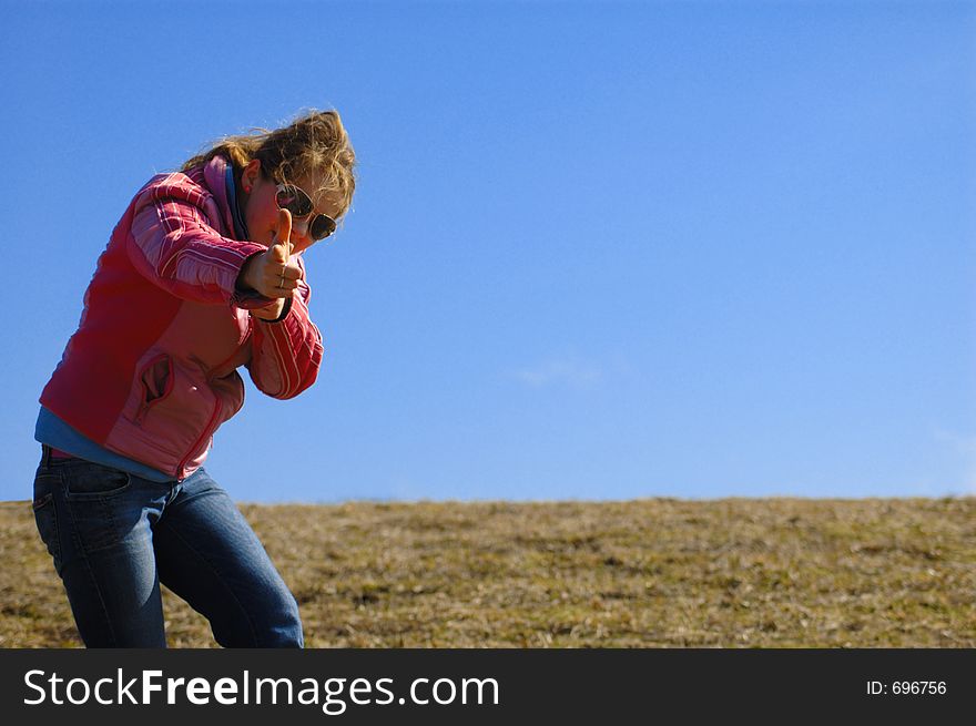
[[257,159],[262,173],[279,184],[296,183],[303,176],[319,176],[321,186],[306,191],[337,194],[340,200],[338,216],[348,212],[353,204],[356,153],[337,111],[311,111],[274,131],[256,129],[252,134],[225,136],[210,151],[185,162],[180,171],[205,164],[218,154],[234,166],[238,183],[242,170]]

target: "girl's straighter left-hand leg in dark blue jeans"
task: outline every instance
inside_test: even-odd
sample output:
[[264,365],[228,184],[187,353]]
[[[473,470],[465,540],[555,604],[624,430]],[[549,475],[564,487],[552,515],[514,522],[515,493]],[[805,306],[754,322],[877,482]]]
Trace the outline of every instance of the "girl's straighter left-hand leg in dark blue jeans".
[[44,448],[34,518],[88,647],[166,646],[149,519],[167,492]]

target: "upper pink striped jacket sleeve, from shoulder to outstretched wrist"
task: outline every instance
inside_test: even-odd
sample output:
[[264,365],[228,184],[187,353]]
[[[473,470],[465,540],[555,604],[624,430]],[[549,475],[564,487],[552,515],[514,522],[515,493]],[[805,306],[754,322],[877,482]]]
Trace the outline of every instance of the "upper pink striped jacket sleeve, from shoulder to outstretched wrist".
[[236,303],[244,262],[265,248],[222,236],[203,205],[203,194],[185,184],[149,187],[136,205],[129,257],[140,273],[180,298]]

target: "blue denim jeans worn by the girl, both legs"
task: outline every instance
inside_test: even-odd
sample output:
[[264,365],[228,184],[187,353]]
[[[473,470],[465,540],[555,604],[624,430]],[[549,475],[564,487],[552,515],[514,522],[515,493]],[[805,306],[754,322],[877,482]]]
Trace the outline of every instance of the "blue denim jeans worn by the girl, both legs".
[[224,647],[302,647],[298,605],[203,469],[155,483],[42,448],[33,509],[89,647],[166,647],[160,583]]

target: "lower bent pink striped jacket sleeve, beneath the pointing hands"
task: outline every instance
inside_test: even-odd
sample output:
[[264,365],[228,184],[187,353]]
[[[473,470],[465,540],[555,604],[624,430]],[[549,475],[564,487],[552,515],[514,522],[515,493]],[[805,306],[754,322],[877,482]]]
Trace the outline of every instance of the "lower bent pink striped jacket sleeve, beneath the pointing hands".
[[[303,269],[304,272],[304,269]],[[273,398],[294,398],[315,382],[322,364],[322,334],[308,317],[312,290],[304,279],[279,321],[254,319],[247,369],[260,390]]]

